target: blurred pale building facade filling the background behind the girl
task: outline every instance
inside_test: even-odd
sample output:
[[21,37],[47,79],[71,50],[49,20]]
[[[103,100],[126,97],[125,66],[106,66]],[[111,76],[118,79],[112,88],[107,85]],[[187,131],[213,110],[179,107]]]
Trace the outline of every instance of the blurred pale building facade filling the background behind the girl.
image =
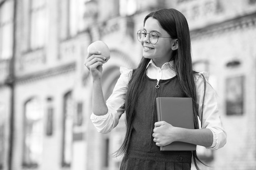
[[83,65],[103,40],[107,99],[142,57],[137,30],[151,11],[175,8],[191,30],[193,65],[209,71],[227,130],[224,148],[198,148],[212,170],[256,169],[256,0],[0,0],[0,170],[118,170],[125,123],[109,134],[90,121]]

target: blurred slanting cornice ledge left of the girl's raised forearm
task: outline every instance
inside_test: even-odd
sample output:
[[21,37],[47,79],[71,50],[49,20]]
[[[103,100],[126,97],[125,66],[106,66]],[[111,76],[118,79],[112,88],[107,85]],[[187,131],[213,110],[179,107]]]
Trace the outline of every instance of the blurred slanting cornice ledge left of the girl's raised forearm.
[[16,77],[15,82],[17,84],[33,82],[33,81],[36,81],[36,80],[45,79],[47,77],[53,77],[53,76],[56,76],[56,75],[69,73],[69,72],[75,71],[75,69],[76,69],[76,63],[72,62],[72,63],[65,64],[65,65],[62,65],[62,66],[58,66],[58,67],[55,67],[55,68],[49,68],[46,71],[40,71],[40,72],[37,72],[37,73],[31,73],[31,74],[28,74],[28,75],[23,75],[23,76],[20,76],[20,77]]

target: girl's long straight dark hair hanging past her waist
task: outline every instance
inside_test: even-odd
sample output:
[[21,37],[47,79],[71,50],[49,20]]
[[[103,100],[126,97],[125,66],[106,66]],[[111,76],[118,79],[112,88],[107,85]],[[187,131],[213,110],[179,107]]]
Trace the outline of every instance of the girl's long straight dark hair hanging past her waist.
[[[191,59],[191,41],[189,34],[189,26],[186,18],[182,13],[176,9],[160,9],[149,13],[144,19],[144,25],[148,18],[155,18],[158,20],[162,29],[168,32],[171,38],[178,40],[179,47],[174,51],[174,55],[171,57],[173,60],[174,68],[179,79],[180,86],[187,97],[191,97],[193,101],[193,114],[194,125],[198,129],[198,105],[196,104],[196,88],[194,82],[195,71],[192,69]],[[142,57],[139,66],[132,73],[132,78],[129,81],[128,89],[126,93],[126,101],[124,104],[126,110],[126,136],[121,148],[117,151],[118,155],[124,153],[129,146],[131,132],[132,132],[132,120],[134,117],[135,106],[137,98],[141,89],[143,88],[146,78],[146,66],[150,59]],[[201,162],[196,155],[196,151],[193,151],[193,160],[197,169],[199,169],[197,162]]]

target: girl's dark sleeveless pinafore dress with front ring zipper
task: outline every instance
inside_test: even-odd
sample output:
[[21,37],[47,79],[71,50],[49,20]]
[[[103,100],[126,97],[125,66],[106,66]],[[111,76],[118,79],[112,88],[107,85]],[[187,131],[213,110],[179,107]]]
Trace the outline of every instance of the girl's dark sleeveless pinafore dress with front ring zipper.
[[132,135],[128,150],[124,154],[120,170],[190,170],[191,151],[160,151],[153,141],[153,128],[157,121],[156,97],[186,97],[177,76],[159,81],[146,76],[140,93]]

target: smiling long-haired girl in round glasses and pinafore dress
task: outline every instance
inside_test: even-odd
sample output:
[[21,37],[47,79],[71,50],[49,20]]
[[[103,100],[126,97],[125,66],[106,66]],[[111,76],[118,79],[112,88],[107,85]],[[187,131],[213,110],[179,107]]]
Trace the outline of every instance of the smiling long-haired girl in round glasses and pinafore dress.
[[[204,76],[192,70],[191,42],[186,18],[175,9],[149,13],[137,32],[143,57],[135,70],[120,68],[121,76],[105,103],[101,88],[99,51],[88,53],[85,66],[93,78],[91,120],[99,132],[110,132],[126,112],[126,136],[118,154],[124,153],[121,170],[190,170],[193,151],[160,151],[173,141],[216,150],[227,134],[217,109],[217,99]],[[156,97],[191,97],[195,129],[157,121]],[[199,129],[198,117],[202,122]]]

